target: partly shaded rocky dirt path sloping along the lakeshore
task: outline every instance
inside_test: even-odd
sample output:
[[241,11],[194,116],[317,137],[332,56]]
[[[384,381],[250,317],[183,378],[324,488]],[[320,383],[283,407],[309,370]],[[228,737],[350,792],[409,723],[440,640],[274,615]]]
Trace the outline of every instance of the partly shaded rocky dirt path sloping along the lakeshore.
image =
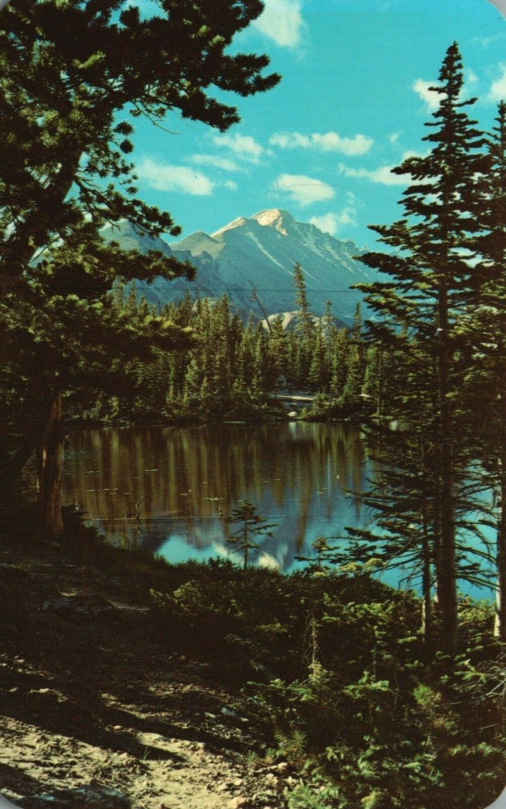
[[160,635],[144,562],[0,541],[0,794],[25,809],[279,809],[240,696]]

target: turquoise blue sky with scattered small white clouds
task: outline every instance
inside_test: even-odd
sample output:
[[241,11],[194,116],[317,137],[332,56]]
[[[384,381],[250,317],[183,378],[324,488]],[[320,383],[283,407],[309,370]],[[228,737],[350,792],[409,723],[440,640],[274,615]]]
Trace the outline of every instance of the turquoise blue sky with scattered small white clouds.
[[[136,0],[131,0],[134,5]],[[150,0],[141,0],[144,11]],[[227,133],[170,113],[175,134],[136,121],[139,193],[183,235],[284,208],[339,239],[372,246],[368,224],[402,210],[389,168],[420,154],[444,53],[459,43],[473,115],[488,129],[506,99],[506,21],[487,0],[265,0],[235,50],[270,55],[274,90],[236,104]],[[154,6],[151,6],[154,7]],[[170,240],[170,239],[168,239]]]

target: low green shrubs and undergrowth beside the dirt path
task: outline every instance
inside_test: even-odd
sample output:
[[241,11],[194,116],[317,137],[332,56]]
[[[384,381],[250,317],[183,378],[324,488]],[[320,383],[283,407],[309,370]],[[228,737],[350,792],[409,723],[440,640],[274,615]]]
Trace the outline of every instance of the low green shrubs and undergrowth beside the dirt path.
[[480,809],[503,790],[504,651],[487,604],[461,601],[452,669],[423,642],[419,599],[368,574],[170,570],[151,592],[159,631],[242,689],[302,776],[291,809]]

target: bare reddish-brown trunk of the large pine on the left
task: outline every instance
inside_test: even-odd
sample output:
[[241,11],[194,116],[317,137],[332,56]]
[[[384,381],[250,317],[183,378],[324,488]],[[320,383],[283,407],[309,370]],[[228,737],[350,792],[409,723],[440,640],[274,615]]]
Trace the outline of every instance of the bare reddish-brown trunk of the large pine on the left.
[[40,526],[46,536],[63,533],[62,482],[62,394],[57,392],[49,407],[45,429],[37,450],[37,493]]

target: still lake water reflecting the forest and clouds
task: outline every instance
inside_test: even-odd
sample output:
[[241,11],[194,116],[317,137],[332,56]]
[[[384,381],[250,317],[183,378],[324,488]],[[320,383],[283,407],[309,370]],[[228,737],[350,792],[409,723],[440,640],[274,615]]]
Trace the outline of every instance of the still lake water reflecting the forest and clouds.
[[[313,556],[317,536],[343,536],[346,526],[372,519],[349,494],[362,492],[371,474],[356,426],[293,421],[82,430],[69,444],[64,501],[81,503],[108,540],[141,544],[172,562],[239,562],[218,509],[227,515],[240,499],[276,523],[252,561],[283,571],[303,564],[294,557]],[[395,572],[382,578],[398,583]],[[490,596],[461,585],[474,596]]]

